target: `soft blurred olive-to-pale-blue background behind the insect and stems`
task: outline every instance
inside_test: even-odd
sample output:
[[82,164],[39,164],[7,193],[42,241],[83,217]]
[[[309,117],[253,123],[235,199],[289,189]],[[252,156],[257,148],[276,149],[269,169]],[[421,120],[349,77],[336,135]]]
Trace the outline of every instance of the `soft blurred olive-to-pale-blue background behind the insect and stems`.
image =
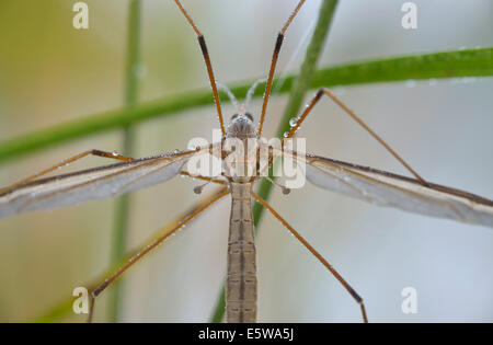
[[[128,1],[87,0],[89,30],[72,27],[76,1],[0,2],[0,140],[123,106]],[[320,67],[414,53],[492,46],[490,0],[414,1],[417,30],[403,30],[404,1],[341,1]],[[140,101],[208,88],[192,28],[171,0],[142,1]],[[183,0],[207,38],[221,83],[263,77],[276,34],[297,0]],[[287,33],[279,73],[303,58],[320,1],[309,0]],[[493,80],[397,82],[334,91],[426,180],[493,198]],[[309,94],[310,95],[310,94]],[[308,95],[308,96],[309,96]],[[286,95],[272,99],[274,135]],[[259,114],[260,100],[251,111]],[[225,104],[227,114],[233,111]],[[296,115],[296,114],[293,114]],[[217,128],[213,102],[138,126],[138,157],[185,148]],[[308,150],[409,175],[375,140],[324,100],[300,136]],[[110,131],[0,166],[0,185],[87,149],[122,149]],[[88,158],[67,171],[108,163]],[[193,181],[134,194],[128,249],[191,206]],[[208,189],[213,189],[209,187]],[[493,231],[379,208],[307,185],[271,205],[365,299],[372,322],[493,321]],[[122,321],[209,319],[226,272],[228,199],[125,275]],[[30,321],[110,268],[114,200],[0,220],[0,321]],[[257,237],[259,321],[360,322],[358,306],[268,214]],[[404,287],[417,313],[401,311]],[[98,321],[105,319],[103,295]],[[62,321],[83,321],[72,315]]]

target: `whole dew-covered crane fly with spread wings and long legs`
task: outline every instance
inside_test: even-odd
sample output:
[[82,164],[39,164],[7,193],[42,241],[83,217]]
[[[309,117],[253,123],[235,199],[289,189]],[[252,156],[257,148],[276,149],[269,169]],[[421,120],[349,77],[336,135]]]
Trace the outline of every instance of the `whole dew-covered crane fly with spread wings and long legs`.
[[[196,218],[196,216],[204,212],[217,200],[230,195],[232,203],[230,211],[226,285],[226,315],[228,322],[256,321],[257,278],[252,200],[256,200],[267,208],[272,215],[278,219],[322,265],[324,265],[324,267],[342,284],[357,302],[360,308],[362,319],[364,322],[367,322],[368,319],[363,298],[311,244],[309,244],[265,200],[253,192],[253,185],[259,180],[263,177],[268,179],[264,173],[274,163],[274,160],[279,157],[283,159],[290,159],[300,166],[303,166],[307,180],[324,189],[334,191],[382,206],[400,208],[410,212],[493,227],[492,200],[425,181],[328,89],[320,89],[308,103],[305,111],[298,117],[294,118],[291,129],[289,133],[286,133],[285,138],[293,139],[297,134],[299,126],[307,118],[317,103],[323,96],[328,96],[359,126],[368,131],[370,136],[379,141],[411,172],[412,175],[414,175],[414,177],[401,176],[372,168],[305,153],[287,148],[285,145],[286,141],[283,141],[280,147],[274,147],[262,140],[263,125],[267,113],[267,104],[280,47],[288,26],[303,5],[305,0],[298,2],[277,36],[268,77],[266,79],[259,125],[254,123],[253,116],[246,112],[246,106],[238,106],[238,113],[231,117],[231,120],[227,126],[225,126],[218,95],[218,88],[221,88],[221,85],[216,83],[206,41],[192,18],[182,7],[180,0],[175,0],[175,2],[197,36],[213,89],[221,130],[221,140],[195,149],[174,151],[144,159],[133,159],[117,153],[90,150],[69,158],[57,165],[24,179],[9,187],[0,189],[0,217],[3,218],[21,212],[51,209],[55,207],[76,205],[87,200],[122,195],[165,182],[179,174],[198,177],[206,181],[206,184],[213,183],[221,185],[221,188],[213,197],[194,208],[172,229],[172,231],[154,240],[133,256],[128,263],[116,271],[116,273],[92,289],[90,320],[93,314],[96,297],[115,281],[128,267],[162,243],[171,233],[177,231],[181,227]],[[257,83],[255,83],[251,90],[254,90],[256,85]],[[230,97],[232,95],[230,94]],[[232,101],[236,101],[233,96]],[[237,142],[250,148],[253,142],[253,157],[260,159],[260,152],[264,151],[267,152],[266,159],[264,158],[262,162],[255,160],[252,162],[249,157],[251,150],[250,152],[242,151],[241,154],[232,156],[231,159],[231,151],[228,150],[228,148],[225,148],[225,143],[228,139],[234,139]],[[53,177],[43,177],[43,175],[87,156],[99,156],[119,160],[121,162]],[[191,172],[187,163],[193,159],[205,156],[213,156],[222,163],[228,161],[237,169],[226,169],[225,171],[221,171],[219,175],[200,175]],[[231,165],[228,166],[231,168]],[[242,169],[238,169],[238,166],[241,166]],[[240,172],[244,172],[244,170],[248,170],[250,173],[240,174]],[[286,194],[289,192],[288,186],[278,182],[272,182],[280,186]],[[203,186],[204,185],[197,186],[194,191],[200,193]]]

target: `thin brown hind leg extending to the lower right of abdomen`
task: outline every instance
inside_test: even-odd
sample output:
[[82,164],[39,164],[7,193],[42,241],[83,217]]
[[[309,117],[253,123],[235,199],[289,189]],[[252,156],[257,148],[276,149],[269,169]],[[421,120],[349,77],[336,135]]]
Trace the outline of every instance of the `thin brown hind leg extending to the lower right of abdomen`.
[[274,217],[276,217],[282,223],[283,226],[286,227],[286,229],[289,230],[290,233],[293,233],[298,241],[301,242],[302,245],[305,245],[316,257],[318,261],[320,261],[322,263],[322,265],[325,266],[326,269],[329,269],[332,275],[335,277],[335,279],[339,280],[339,283],[342,284],[342,286],[347,290],[347,292],[349,292],[351,296],[353,296],[353,298],[355,299],[355,301],[359,304],[359,307],[362,308],[362,315],[363,315],[363,322],[368,323],[368,318],[366,317],[366,309],[365,309],[365,303],[363,302],[363,298],[359,297],[359,295],[351,287],[349,284],[347,284],[346,280],[344,280],[344,278],[337,273],[337,271],[335,271],[334,267],[331,266],[331,264],[329,264],[329,262],[323,258],[323,256],[314,250],[313,246],[310,245],[310,243],[307,242],[307,240],[305,240],[283,217],[279,216],[279,214],[277,214],[264,199],[262,199],[259,195],[256,195],[255,193],[252,193],[252,196],[262,204],[262,206],[264,206],[266,209],[268,209],[271,211],[271,214],[274,215]]

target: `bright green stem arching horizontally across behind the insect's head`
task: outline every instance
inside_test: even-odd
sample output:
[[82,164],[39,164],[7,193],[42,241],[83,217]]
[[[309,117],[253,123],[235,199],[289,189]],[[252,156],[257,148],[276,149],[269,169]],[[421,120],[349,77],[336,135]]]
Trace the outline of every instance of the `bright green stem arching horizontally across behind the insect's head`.
[[[493,76],[493,48],[452,50],[444,53],[385,58],[329,67],[314,72],[310,89],[336,85],[356,85],[404,80],[443,79]],[[291,90],[297,76],[288,76],[279,93]],[[228,84],[237,97],[244,97],[256,79]],[[276,82],[276,80],[275,80]],[[254,97],[262,96],[261,90]],[[220,93],[221,101],[228,100]],[[0,163],[27,153],[73,141],[90,135],[124,128],[156,117],[177,115],[179,112],[213,104],[209,89],[191,91],[162,100],[142,103],[133,108],[110,111],[79,120],[28,133],[0,142]]]

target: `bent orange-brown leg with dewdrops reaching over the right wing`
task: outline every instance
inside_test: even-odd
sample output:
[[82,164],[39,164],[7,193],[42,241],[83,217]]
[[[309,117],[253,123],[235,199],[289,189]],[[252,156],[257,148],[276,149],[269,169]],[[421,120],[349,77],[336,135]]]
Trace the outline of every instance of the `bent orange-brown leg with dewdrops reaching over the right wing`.
[[404,165],[404,168],[408,169],[424,186],[428,186],[428,183],[423,177],[421,177],[414,171],[414,169],[412,169],[411,165],[409,165],[394,150],[392,150],[392,148],[387,142],[385,142],[382,138],[380,138],[380,136],[378,136],[374,130],[371,130],[371,128],[369,128],[368,125],[365,124],[365,122],[363,122],[363,119],[360,119],[352,110],[349,110],[341,100],[339,100],[332,92],[330,92],[325,88],[319,89],[314,97],[308,104],[307,108],[298,117],[298,122],[291,128],[286,138],[291,138],[296,134],[301,123],[305,120],[305,118],[308,116],[308,114],[311,112],[311,110],[316,106],[316,104],[320,101],[320,99],[324,94],[329,96],[332,101],[334,101],[335,104],[337,104],[347,115],[349,115],[356,123],[358,123],[359,126],[362,126],[366,131],[368,131],[371,135],[371,137],[374,137],[378,142],[380,142],[387,149],[387,151],[389,151],[390,154],[392,154],[402,165]]

